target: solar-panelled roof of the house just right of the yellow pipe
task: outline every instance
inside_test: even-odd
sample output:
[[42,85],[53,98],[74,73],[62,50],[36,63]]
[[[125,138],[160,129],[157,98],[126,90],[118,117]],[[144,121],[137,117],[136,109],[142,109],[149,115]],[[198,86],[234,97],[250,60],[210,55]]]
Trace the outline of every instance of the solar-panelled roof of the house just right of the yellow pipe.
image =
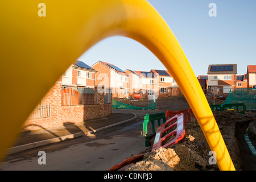
[[210,64],[207,74],[237,74],[237,64]]

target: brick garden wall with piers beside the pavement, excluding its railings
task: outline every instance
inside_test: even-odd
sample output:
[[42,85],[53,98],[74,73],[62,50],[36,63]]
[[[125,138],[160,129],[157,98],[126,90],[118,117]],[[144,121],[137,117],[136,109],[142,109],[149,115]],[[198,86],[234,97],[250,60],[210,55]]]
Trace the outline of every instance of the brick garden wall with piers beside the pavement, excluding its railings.
[[51,117],[27,119],[23,129],[37,130],[63,126],[64,123],[79,123],[88,119],[102,118],[112,113],[110,104],[104,104],[104,93],[98,93],[98,104],[61,106],[61,82],[57,82],[43,98],[44,104],[51,105]]

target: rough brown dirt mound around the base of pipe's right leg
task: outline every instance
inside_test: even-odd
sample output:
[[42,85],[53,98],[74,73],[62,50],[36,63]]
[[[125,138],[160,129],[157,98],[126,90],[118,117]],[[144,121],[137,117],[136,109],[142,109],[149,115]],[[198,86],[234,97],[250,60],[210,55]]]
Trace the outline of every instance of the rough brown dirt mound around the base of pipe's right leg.
[[[242,169],[238,140],[235,137],[236,122],[248,118],[247,115],[225,110],[214,113],[218,127],[236,170]],[[186,135],[179,143],[168,148],[158,148],[147,152],[141,162],[131,164],[126,170],[175,170],[175,171],[209,171],[219,170],[214,163],[213,154],[196,119],[185,125]],[[156,162],[158,161],[158,162]],[[169,167],[170,168],[169,168]]]

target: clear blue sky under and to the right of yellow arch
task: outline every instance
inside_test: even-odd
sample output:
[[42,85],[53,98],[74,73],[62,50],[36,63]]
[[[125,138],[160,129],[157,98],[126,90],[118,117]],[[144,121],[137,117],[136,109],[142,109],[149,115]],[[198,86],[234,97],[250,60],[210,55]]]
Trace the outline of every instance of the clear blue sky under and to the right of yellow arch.
[[[238,75],[256,64],[256,1],[149,0],[176,36],[195,75],[207,75],[209,64],[237,64]],[[210,17],[209,3],[217,16]],[[102,40],[78,60],[98,60],[125,70],[166,69],[159,59],[135,40],[114,36]]]

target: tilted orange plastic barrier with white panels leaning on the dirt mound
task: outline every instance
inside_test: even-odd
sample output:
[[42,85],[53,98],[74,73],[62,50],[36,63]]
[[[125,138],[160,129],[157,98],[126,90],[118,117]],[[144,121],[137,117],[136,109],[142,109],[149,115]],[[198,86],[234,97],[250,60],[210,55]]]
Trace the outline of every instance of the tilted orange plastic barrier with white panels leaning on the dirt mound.
[[[163,134],[166,133],[166,131],[171,130],[173,127],[176,127],[176,129],[171,131],[167,135],[163,136]],[[175,134],[176,134],[176,137],[174,139],[172,139],[170,142],[166,144],[163,144],[164,140],[170,138],[172,135],[175,135]],[[156,131],[156,135],[155,135],[155,142],[153,144],[151,151],[154,151],[159,147],[163,147],[163,148],[169,147],[172,144],[175,144],[179,142],[179,140],[183,139],[184,135],[185,135],[185,117],[184,117],[184,114],[181,113],[179,115],[175,115],[174,117],[168,119],[166,123],[158,127],[158,130]]]

